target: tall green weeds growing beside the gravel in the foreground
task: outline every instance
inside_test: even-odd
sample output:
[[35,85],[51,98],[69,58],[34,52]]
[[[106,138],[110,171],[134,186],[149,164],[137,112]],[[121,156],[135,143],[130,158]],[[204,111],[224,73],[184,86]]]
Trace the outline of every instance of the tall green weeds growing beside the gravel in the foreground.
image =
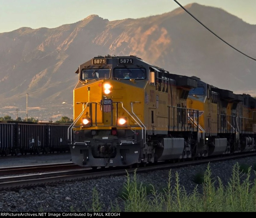
[[[175,185],[171,186],[171,170],[166,187],[155,190],[152,185],[139,184],[136,170],[119,193],[119,200],[111,202],[113,212],[256,212],[256,179],[250,182],[251,166],[236,163],[232,177],[224,186],[218,177],[213,179],[210,164],[204,173],[194,177],[194,191],[188,194],[179,184],[179,175],[175,174]],[[253,172],[255,173],[255,171]],[[201,184],[200,191],[198,184]],[[120,203],[120,201],[118,201]],[[98,192],[93,190],[91,211],[101,211]]]

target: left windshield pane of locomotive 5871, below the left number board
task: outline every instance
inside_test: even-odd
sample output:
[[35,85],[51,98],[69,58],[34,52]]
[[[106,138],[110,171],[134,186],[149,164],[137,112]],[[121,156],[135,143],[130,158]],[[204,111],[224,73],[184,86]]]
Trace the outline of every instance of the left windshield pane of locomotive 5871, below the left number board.
[[110,69],[82,69],[81,80],[109,79]]

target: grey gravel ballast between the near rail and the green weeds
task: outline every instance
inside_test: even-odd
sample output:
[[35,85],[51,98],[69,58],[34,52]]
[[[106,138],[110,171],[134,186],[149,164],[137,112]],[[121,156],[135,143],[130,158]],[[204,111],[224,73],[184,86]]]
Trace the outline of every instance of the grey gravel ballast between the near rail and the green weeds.
[[[222,183],[227,185],[232,177],[232,169],[236,163],[254,166],[256,157],[228,160],[210,163],[212,177],[218,184],[217,176]],[[175,183],[175,173],[178,172],[180,185],[184,186],[187,193],[191,193],[196,187],[193,178],[198,173],[204,173],[207,164],[187,166],[171,169],[171,184]],[[167,187],[170,170],[159,170],[147,173],[136,173],[137,182],[152,184],[156,190]],[[130,175],[133,180],[133,175]],[[254,172],[251,171],[251,181],[254,180]],[[73,181],[60,183],[57,186],[41,186],[29,189],[18,189],[15,191],[0,191],[0,211],[4,212],[88,212],[92,209],[93,189],[98,192],[101,203],[101,211],[113,212],[111,201],[123,210],[123,200],[118,196],[127,176],[111,176],[100,179],[88,179],[84,181]],[[202,188],[199,185],[198,188]]]

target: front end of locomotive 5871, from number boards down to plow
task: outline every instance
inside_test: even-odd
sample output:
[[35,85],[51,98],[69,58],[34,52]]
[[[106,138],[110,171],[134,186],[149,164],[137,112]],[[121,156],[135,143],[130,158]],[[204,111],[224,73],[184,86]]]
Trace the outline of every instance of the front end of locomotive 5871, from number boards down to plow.
[[127,166],[139,161],[146,135],[141,99],[148,77],[139,61],[100,56],[79,66],[70,127],[74,163]]

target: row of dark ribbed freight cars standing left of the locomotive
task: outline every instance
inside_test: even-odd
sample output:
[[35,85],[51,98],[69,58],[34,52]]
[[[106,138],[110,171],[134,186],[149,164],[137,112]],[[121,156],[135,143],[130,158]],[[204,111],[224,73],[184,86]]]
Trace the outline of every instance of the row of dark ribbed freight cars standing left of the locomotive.
[[69,125],[2,121],[0,155],[69,152]]

